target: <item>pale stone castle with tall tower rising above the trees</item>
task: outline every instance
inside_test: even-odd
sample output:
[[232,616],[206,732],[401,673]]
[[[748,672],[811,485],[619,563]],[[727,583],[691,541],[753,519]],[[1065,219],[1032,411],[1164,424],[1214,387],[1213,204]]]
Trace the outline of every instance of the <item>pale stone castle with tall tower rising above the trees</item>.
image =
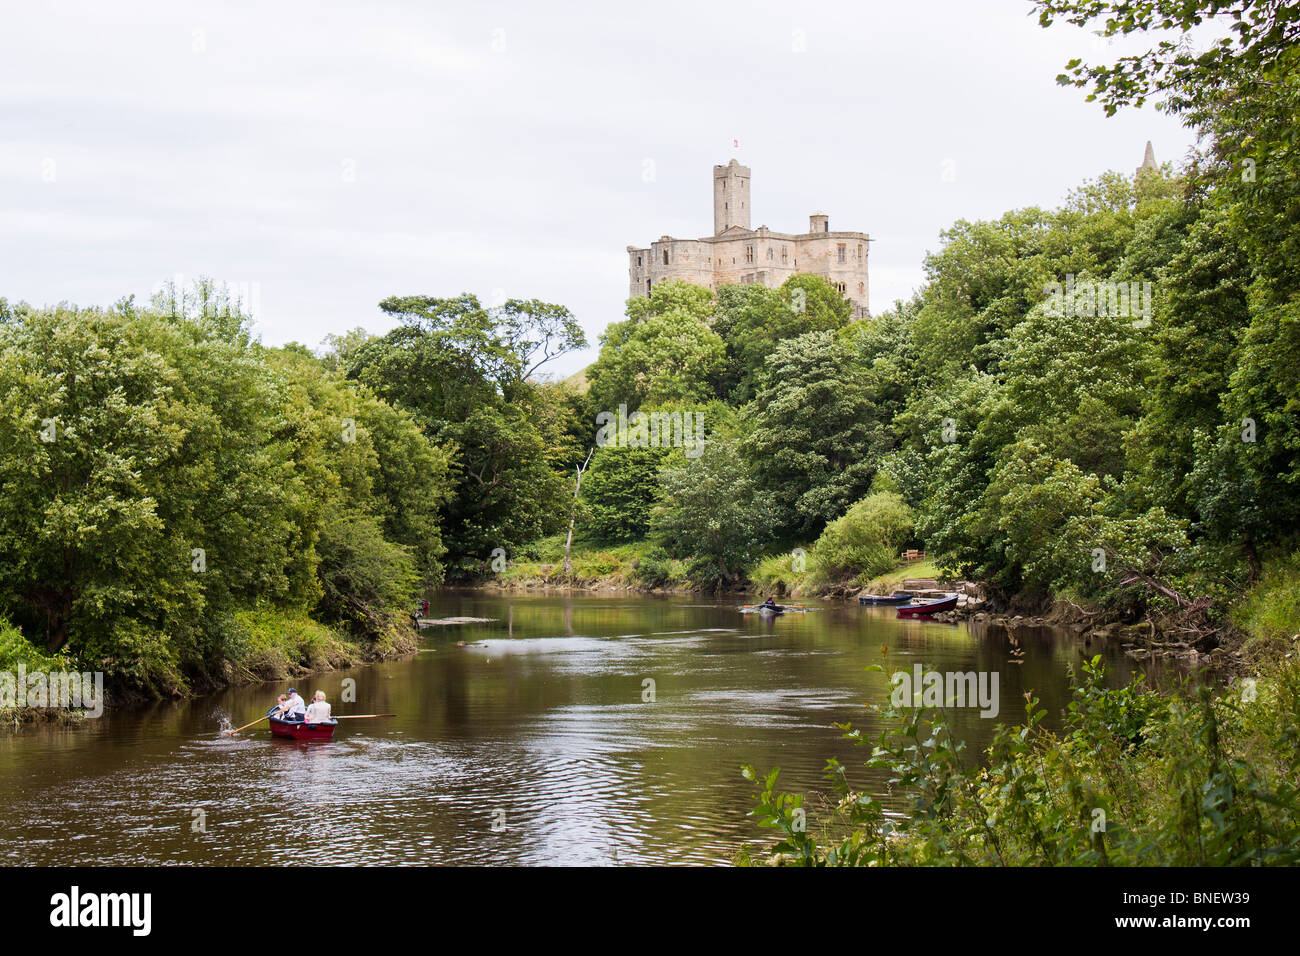
[[806,233],[774,233],[749,225],[749,166],[732,160],[714,166],[714,234],[699,239],[659,237],[649,248],[628,246],[629,297],[647,295],[677,278],[706,289],[759,284],[775,289],[790,276],[820,276],[853,303],[853,317],[867,311],[866,233],[832,233],[820,212]]

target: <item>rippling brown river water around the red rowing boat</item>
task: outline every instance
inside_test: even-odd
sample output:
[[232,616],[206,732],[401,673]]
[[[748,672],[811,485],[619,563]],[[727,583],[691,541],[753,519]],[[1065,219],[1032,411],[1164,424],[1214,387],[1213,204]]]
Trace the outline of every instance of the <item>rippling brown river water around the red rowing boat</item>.
[[[0,861],[91,864],[722,864],[770,842],[746,818],[741,765],[781,767],[815,793],[828,757],[863,790],[884,783],[833,724],[874,736],[863,706],[887,672],[924,663],[998,675],[997,719],[956,713],[975,754],[1027,689],[1052,719],[1087,652],[1110,679],[1118,646],[1048,630],[900,620],[892,609],[810,602],[776,619],[699,596],[436,596],[412,658],[296,683],[342,722],[328,743],[237,737],[287,684],[107,713],[83,727],[0,735]],[[352,679],[355,702],[341,701]],[[653,683],[647,683],[653,682]],[[650,700],[653,697],[653,700]]]

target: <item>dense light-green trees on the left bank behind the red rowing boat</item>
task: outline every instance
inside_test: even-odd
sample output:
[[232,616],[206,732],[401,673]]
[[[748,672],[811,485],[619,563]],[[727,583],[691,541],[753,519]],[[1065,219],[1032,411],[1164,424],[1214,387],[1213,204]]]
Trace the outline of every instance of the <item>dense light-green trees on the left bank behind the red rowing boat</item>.
[[211,282],[9,310],[0,390],[0,613],[124,688],[222,683],[251,607],[390,640],[441,579],[447,451]]

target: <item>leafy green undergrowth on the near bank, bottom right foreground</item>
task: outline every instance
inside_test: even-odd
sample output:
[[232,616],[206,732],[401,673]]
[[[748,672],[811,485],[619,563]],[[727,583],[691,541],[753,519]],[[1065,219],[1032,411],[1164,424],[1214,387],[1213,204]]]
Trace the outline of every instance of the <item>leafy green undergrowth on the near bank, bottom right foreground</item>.
[[[874,665],[871,670],[881,670]],[[1000,724],[971,760],[946,710],[879,709],[866,766],[905,799],[884,813],[831,760],[838,800],[824,821],[796,813],[777,774],[750,816],[781,831],[768,861],[802,866],[1227,866],[1300,861],[1300,667],[1268,671],[1254,696],[1188,687],[1171,698],[1140,683],[1105,687],[1100,657],[1074,679],[1065,726],[1026,695],[1024,721]]]

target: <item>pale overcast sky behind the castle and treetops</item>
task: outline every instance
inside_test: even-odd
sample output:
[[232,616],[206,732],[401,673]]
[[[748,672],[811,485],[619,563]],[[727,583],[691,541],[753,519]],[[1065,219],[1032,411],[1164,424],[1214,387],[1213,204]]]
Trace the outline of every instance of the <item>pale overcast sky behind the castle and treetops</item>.
[[[1117,47],[1027,0],[40,3],[0,25],[0,295],[112,304],[207,274],[263,341],[391,323],[393,294],[623,317],[627,246],[753,224],[868,233],[871,307],[958,219],[1058,204],[1150,139],[1054,82]],[[593,352],[552,369],[568,373]]]

